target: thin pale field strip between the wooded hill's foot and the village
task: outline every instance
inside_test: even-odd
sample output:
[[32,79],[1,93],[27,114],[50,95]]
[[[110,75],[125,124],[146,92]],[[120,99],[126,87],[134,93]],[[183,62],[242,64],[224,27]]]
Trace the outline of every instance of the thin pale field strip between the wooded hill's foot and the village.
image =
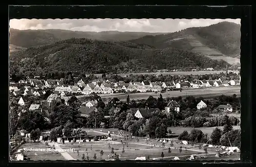
[[[216,57],[216,56],[215,56]],[[240,59],[239,59],[240,60]],[[239,73],[238,70],[228,70],[229,72],[233,72],[233,73]],[[225,70],[219,70],[219,71],[172,71],[172,72],[157,72],[157,73],[125,73],[125,74],[117,74],[119,76],[129,76],[129,75],[171,75],[171,76],[183,76],[183,75],[204,75],[204,74],[220,74],[220,73],[226,73]],[[102,74],[94,74],[97,77],[101,77]],[[106,75],[109,76],[109,75]]]

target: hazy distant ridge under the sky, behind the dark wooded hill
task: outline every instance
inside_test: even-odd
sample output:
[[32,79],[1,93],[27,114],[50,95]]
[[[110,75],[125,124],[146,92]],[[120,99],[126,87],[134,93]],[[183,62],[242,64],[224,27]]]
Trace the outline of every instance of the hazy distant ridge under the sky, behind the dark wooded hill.
[[10,29],[10,44],[22,47],[44,45],[70,38],[88,38],[105,41],[126,41],[141,38],[146,35],[159,35],[164,33],[144,32],[82,32],[68,30],[16,30]]

